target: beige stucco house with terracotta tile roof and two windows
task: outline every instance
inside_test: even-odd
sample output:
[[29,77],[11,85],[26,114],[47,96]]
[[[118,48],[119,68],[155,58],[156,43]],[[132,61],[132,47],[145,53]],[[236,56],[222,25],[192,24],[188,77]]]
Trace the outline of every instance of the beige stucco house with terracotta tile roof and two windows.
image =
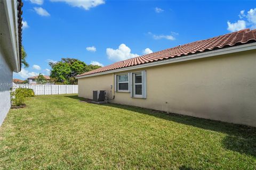
[[244,29],[83,73],[78,96],[256,126],[256,30]]

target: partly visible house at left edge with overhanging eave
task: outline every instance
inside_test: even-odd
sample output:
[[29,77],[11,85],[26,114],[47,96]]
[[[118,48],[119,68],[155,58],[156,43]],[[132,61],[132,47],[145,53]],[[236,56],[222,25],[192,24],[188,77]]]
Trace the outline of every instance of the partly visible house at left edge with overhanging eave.
[[0,0],[0,125],[11,107],[13,72],[21,69],[21,0]]

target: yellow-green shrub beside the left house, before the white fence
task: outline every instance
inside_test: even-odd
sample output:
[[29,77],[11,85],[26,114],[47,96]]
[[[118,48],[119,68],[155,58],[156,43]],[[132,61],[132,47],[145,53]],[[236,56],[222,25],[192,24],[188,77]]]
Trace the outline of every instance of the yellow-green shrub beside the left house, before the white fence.
[[11,92],[11,101],[13,106],[25,104],[26,97],[33,97],[35,93],[32,89],[17,88]]

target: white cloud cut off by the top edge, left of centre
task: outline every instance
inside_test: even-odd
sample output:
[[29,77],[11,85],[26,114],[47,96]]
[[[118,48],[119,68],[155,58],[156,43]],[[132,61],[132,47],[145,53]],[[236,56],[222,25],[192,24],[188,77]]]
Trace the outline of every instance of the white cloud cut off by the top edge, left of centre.
[[85,10],[105,4],[104,0],[51,0],[51,2],[65,2],[73,7],[82,7]]

